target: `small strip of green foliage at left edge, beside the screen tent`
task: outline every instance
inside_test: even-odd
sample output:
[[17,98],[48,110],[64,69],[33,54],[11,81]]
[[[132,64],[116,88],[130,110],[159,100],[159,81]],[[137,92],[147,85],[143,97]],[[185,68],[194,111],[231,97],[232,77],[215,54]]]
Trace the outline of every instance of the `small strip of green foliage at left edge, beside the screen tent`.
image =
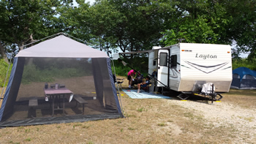
[[5,62],[4,59],[0,59],[0,87],[4,86],[4,80],[6,75],[7,75],[7,82],[5,83],[5,86],[7,86],[8,84],[8,80],[12,71],[12,64],[10,65],[9,72],[7,74],[8,66],[9,64],[7,64],[7,62]]

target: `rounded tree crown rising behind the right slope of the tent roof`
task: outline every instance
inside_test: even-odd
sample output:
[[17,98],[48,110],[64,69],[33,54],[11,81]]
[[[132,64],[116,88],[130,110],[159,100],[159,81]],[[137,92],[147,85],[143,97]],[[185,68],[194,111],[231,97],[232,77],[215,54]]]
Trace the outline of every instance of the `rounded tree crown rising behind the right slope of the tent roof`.
[[105,0],[97,1],[91,7],[88,4],[80,4],[78,9],[81,12],[78,15],[78,23],[83,37],[86,37],[88,42],[99,45],[100,50],[116,48],[113,29],[124,19],[123,15]]

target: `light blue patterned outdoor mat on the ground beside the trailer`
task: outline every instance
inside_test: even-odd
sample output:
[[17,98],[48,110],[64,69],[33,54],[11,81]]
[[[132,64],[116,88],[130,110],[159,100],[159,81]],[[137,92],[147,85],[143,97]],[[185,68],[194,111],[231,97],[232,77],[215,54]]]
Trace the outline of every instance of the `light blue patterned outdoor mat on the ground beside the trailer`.
[[137,89],[123,89],[124,93],[127,94],[132,99],[171,99],[169,96],[164,96],[162,94],[148,93],[141,90],[137,93]]

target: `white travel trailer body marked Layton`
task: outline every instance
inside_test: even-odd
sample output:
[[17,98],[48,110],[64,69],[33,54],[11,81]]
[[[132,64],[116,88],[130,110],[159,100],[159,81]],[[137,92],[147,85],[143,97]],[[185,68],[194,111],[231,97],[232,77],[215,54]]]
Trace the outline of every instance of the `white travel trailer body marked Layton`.
[[214,83],[216,92],[228,92],[232,82],[230,45],[178,43],[153,47],[148,55],[148,73],[157,71],[157,87],[174,91],[200,91]]

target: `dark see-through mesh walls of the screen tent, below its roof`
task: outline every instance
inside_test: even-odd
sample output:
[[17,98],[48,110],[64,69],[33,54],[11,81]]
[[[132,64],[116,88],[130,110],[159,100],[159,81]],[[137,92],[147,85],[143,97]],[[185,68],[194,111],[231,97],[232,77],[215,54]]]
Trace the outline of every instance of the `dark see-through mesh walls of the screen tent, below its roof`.
[[[8,85],[10,91],[4,96],[1,107],[0,126],[90,121],[121,116],[109,70],[109,58],[19,57],[16,62],[12,83]],[[48,88],[45,88],[46,83]],[[72,91],[72,94],[60,92],[45,96],[45,89],[54,90],[56,83],[59,91],[64,88]],[[77,98],[82,98],[82,102]],[[83,102],[86,104],[83,105]]]

